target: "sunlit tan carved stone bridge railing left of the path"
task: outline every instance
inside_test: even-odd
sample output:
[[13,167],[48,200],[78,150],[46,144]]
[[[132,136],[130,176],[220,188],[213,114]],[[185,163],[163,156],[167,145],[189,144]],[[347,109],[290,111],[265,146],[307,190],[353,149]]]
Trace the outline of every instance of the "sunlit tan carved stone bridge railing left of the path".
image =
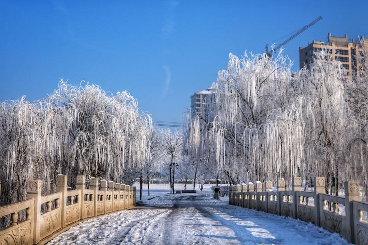
[[0,207],[0,218],[11,219],[0,230],[0,245],[45,244],[80,221],[136,204],[133,186],[101,180],[99,190],[98,178],[91,178],[87,189],[85,176],[78,175],[77,189],[67,190],[67,182],[67,176],[57,175],[56,193],[41,196],[42,181],[28,181],[27,200]]

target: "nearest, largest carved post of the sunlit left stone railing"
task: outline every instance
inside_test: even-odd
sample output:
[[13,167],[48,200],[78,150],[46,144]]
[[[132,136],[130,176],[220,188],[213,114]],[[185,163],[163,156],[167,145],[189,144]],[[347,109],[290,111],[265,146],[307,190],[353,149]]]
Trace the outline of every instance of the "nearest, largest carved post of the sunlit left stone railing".
[[33,243],[37,244],[40,241],[41,227],[41,180],[29,180],[27,185],[27,199],[34,199],[34,228],[33,228]]

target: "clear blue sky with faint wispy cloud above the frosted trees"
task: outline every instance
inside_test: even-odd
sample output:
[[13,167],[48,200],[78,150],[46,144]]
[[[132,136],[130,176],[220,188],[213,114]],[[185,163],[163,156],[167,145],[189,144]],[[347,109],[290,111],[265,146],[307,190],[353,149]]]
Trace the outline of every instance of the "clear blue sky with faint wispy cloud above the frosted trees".
[[154,120],[180,122],[229,52],[263,52],[321,15],[285,46],[297,70],[299,46],[328,32],[357,38],[368,32],[367,13],[368,1],[0,0],[0,101],[44,98],[60,78],[85,80],[128,90]]

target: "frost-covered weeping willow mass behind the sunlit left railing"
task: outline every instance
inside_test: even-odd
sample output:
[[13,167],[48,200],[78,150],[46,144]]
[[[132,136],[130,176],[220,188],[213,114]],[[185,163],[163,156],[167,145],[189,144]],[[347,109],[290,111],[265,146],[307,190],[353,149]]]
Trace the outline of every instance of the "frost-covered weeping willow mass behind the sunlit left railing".
[[56,174],[68,175],[70,186],[77,174],[124,181],[125,169],[149,156],[150,118],[127,92],[61,80],[43,100],[2,102],[0,117],[2,204],[24,199],[29,179],[42,179],[44,193]]

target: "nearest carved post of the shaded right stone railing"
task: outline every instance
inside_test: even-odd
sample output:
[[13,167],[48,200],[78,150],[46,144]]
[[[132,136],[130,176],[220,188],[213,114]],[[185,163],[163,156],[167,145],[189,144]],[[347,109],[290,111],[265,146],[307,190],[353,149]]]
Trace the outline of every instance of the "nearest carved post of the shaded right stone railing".
[[354,243],[353,201],[360,201],[359,182],[345,181],[345,219],[348,242]]

